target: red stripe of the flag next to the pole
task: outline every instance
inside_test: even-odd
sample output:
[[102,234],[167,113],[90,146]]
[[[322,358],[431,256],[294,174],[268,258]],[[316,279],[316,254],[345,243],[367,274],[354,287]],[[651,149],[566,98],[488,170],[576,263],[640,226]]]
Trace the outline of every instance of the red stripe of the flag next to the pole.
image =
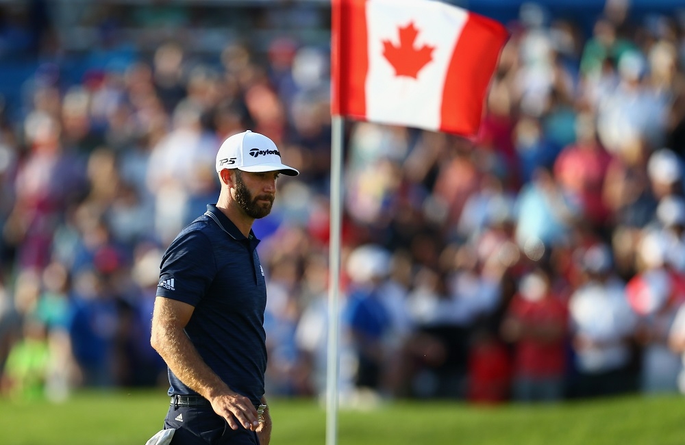
[[366,0],[333,0],[331,114],[366,118]]

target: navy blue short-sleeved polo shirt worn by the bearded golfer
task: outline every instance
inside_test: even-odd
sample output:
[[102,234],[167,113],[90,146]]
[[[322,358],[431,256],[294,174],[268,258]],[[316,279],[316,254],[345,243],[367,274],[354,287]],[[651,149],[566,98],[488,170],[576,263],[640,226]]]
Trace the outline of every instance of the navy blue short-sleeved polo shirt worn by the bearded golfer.
[[[157,295],[195,307],[186,334],[229,387],[259,404],[264,395],[266,283],[250,231],[245,238],[215,205],[166,249]],[[169,395],[197,394],[169,370]]]

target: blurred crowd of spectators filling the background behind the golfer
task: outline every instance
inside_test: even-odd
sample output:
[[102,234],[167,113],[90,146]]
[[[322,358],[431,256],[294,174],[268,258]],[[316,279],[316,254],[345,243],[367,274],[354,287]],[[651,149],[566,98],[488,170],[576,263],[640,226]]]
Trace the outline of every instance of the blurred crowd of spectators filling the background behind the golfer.
[[[347,123],[341,401],[685,392],[685,18],[626,4],[588,29],[523,5],[477,138]],[[0,394],[167,384],[160,259],[245,129],[301,171],[254,226],[267,392],[323,394],[327,51],[36,62],[0,123]]]

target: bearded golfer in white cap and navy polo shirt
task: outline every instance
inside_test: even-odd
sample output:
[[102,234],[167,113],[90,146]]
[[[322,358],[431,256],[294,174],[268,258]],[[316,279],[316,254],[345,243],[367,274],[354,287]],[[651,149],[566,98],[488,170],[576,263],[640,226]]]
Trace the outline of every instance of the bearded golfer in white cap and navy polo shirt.
[[[148,443],[268,445],[266,283],[252,232],[271,212],[281,162],[266,136],[231,136],[216,155],[216,205],[185,227],[160,266],[151,344],[169,367],[171,406]],[[173,205],[173,203],[170,203]],[[169,431],[172,430],[172,431]]]

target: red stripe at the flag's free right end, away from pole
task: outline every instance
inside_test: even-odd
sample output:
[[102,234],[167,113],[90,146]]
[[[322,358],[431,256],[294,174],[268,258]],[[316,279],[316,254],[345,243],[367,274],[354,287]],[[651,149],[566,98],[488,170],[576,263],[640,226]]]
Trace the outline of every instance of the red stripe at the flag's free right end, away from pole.
[[485,94],[508,37],[506,29],[496,21],[469,14],[447,68],[440,131],[475,136]]

